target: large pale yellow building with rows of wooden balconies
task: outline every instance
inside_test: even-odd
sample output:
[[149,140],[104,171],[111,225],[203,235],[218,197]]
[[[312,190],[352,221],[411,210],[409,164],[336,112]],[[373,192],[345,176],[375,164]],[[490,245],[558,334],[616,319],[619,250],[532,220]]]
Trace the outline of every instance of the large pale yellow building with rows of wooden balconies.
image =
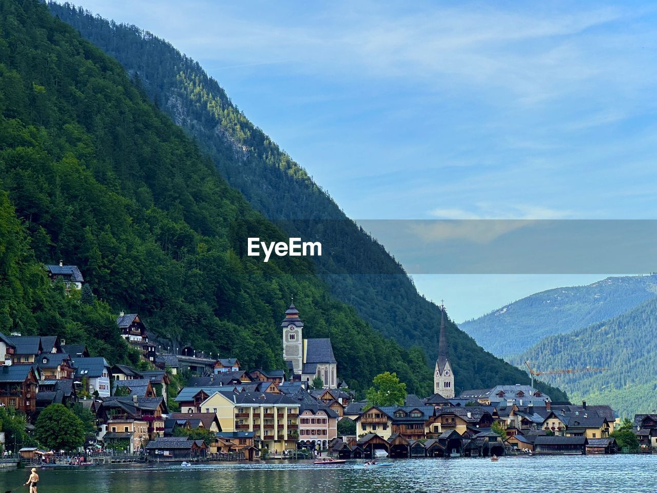
[[300,403],[271,392],[215,392],[201,403],[217,413],[221,431],[253,431],[271,452],[296,449]]

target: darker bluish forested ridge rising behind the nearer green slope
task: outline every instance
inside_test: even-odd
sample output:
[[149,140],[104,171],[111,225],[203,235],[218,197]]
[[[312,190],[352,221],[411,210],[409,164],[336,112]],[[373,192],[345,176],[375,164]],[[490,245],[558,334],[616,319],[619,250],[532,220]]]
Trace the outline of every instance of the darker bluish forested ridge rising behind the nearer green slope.
[[[296,220],[278,223],[287,235],[322,242],[330,255],[315,258],[315,268],[333,296],[354,306],[359,316],[386,337],[406,348],[422,348],[433,364],[438,348],[438,307],[417,293],[396,260],[254,126],[197,62],[135,26],[116,24],[70,5],[51,3],[49,7],[119,60],[154,103],[193,135],[220,174],[256,210],[270,220]],[[526,373],[482,350],[451,321],[447,333],[457,388],[528,383]],[[411,354],[422,359],[417,351]],[[556,389],[548,392],[562,395]]]

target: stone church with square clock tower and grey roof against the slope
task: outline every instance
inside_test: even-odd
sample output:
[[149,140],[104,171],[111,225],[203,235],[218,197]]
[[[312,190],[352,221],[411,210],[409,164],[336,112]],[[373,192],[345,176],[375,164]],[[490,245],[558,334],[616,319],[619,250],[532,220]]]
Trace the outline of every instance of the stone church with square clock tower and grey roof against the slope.
[[304,339],[304,322],[299,310],[290,304],[281,322],[283,359],[295,381],[312,383],[320,377],[325,388],[338,388],[338,365],[330,339]]

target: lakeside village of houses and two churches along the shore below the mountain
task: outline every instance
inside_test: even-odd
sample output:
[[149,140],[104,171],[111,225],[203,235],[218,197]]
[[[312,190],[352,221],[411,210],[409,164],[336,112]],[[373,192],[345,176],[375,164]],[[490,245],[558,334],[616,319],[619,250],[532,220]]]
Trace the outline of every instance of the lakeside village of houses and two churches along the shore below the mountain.
[[[60,262],[47,270],[71,289],[83,285],[76,266]],[[0,406],[5,413],[24,415],[28,435],[47,434],[39,431],[38,416],[48,415],[42,420],[47,426],[58,419],[51,410],[81,410],[91,420],[85,445],[74,452],[19,446],[0,431],[2,463],[52,467],[619,451],[612,434],[622,425],[609,406],[552,402],[539,390],[518,384],[455,396],[442,310],[434,394],[419,398],[404,391],[392,405],[354,399],[338,378],[330,339],[304,339],[294,304],[280,325],[287,371],[245,369],[235,358],[198,356],[191,347],[160,352],[138,314],[122,313],[116,323],[122,337],[141,351],[139,366],[148,369],[110,366],[102,356],[91,357],[85,346],[57,335],[0,333]],[[189,378],[177,389],[171,383],[182,375]],[[388,373],[380,377],[396,379]],[[629,423],[624,426],[629,433]],[[631,434],[641,450],[657,448],[657,415],[637,415]]]

